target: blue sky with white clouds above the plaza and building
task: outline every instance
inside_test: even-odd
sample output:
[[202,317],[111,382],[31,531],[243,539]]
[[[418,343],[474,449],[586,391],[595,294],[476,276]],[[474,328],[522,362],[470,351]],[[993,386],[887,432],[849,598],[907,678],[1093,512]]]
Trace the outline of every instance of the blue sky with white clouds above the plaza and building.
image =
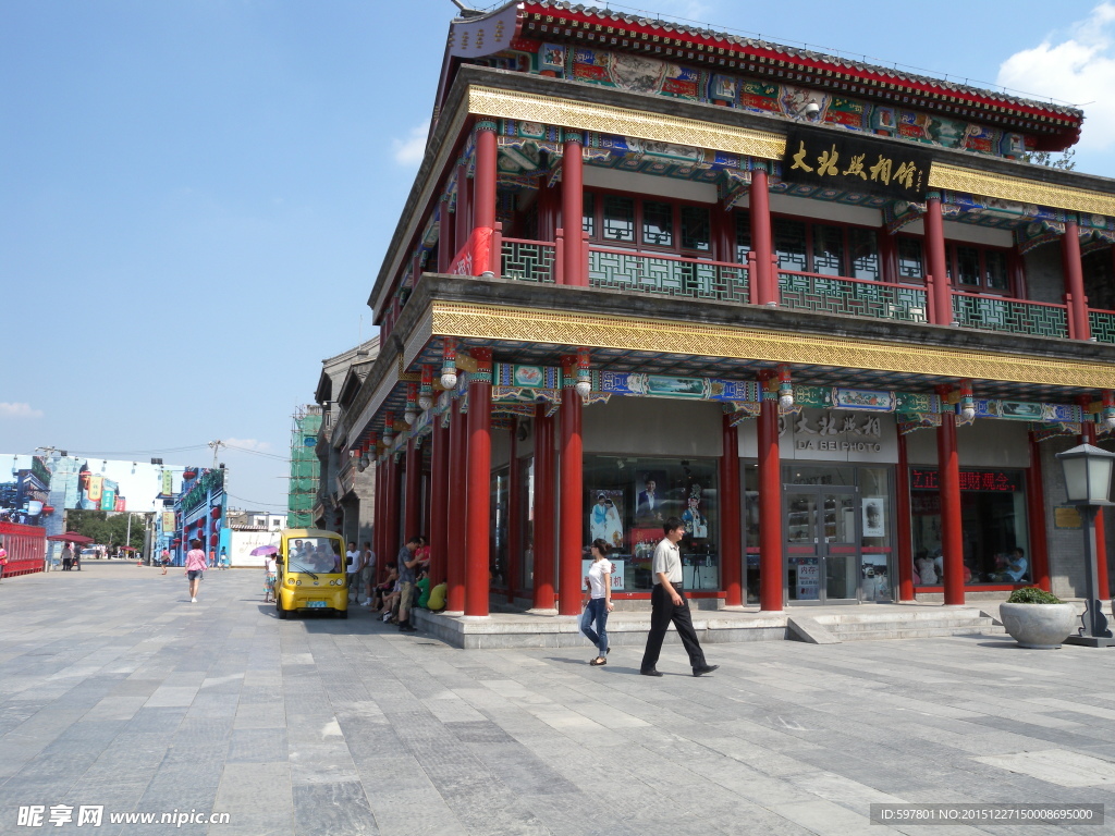
[[[0,0],[0,453],[204,464],[220,438],[234,504],[284,506],[290,416],[371,332],[455,10]],[[1092,103],[1078,169],[1115,176],[1115,4],[655,13]]]

